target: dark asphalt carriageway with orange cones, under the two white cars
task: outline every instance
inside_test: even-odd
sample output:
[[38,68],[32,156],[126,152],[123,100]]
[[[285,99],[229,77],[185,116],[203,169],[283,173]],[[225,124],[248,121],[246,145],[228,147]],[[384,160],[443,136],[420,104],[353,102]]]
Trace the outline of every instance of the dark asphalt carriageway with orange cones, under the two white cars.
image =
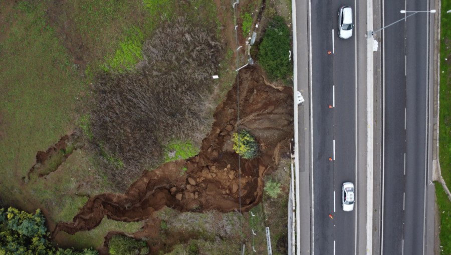
[[343,5],[356,9],[344,0],[311,1],[315,254],[355,253],[355,210],[341,208],[342,183],[356,183],[356,45],[355,34],[337,36]]

